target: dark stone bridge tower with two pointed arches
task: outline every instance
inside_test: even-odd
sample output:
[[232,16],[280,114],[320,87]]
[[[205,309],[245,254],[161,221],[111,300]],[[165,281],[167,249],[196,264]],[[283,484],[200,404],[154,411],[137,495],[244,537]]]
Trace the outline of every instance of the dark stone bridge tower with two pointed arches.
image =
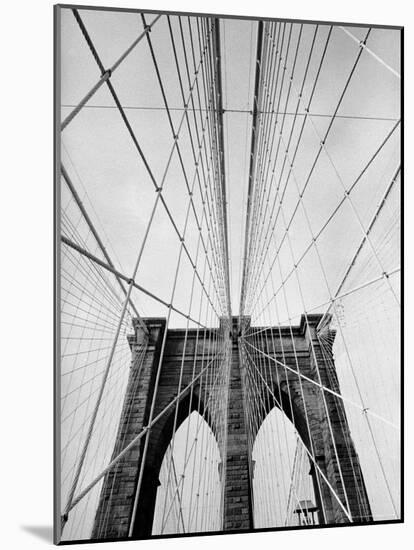
[[[152,418],[156,422],[150,423],[146,436],[107,473],[92,538],[151,536],[162,460],[174,426],[177,429],[192,411],[198,411],[215,434],[225,464],[223,530],[254,529],[254,472],[248,441],[249,437],[254,441],[260,426],[253,433],[248,433],[247,427],[254,391],[255,398],[262,403],[261,421],[276,400],[308,450],[319,523],[347,523],[349,516],[357,523],[372,521],[358,455],[340,398],[332,350],[327,354],[326,346],[322,349],[318,337],[321,315],[302,315],[300,324],[293,327],[254,327],[254,332],[260,335],[254,343],[249,337],[250,318],[240,321],[239,317],[233,317],[231,322],[221,319],[218,329],[208,329],[220,337],[218,359],[217,349],[212,349],[211,344],[218,340],[201,338],[199,330],[167,329],[164,318],[144,321],[148,335],[137,323],[135,333],[129,338],[131,370],[113,456],[148,426],[153,401]],[[331,331],[331,342],[334,336]],[[247,381],[251,350],[258,347],[265,360],[260,391]],[[278,368],[282,350],[284,368]],[[229,368],[227,380],[218,385],[212,383],[210,372],[215,361],[228,361]],[[182,391],[177,393],[180,373]],[[211,404],[222,399],[223,392],[227,392],[227,414],[218,415],[217,407]],[[168,405],[177,402],[177,407],[168,409]],[[136,498],[146,437],[146,460]]]

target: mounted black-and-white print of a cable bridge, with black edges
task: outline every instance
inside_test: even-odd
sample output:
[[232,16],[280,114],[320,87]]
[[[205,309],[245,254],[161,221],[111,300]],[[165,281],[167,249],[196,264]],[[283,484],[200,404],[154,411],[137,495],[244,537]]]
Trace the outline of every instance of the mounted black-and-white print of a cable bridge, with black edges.
[[403,27],[170,9],[54,7],[54,542],[401,523]]

